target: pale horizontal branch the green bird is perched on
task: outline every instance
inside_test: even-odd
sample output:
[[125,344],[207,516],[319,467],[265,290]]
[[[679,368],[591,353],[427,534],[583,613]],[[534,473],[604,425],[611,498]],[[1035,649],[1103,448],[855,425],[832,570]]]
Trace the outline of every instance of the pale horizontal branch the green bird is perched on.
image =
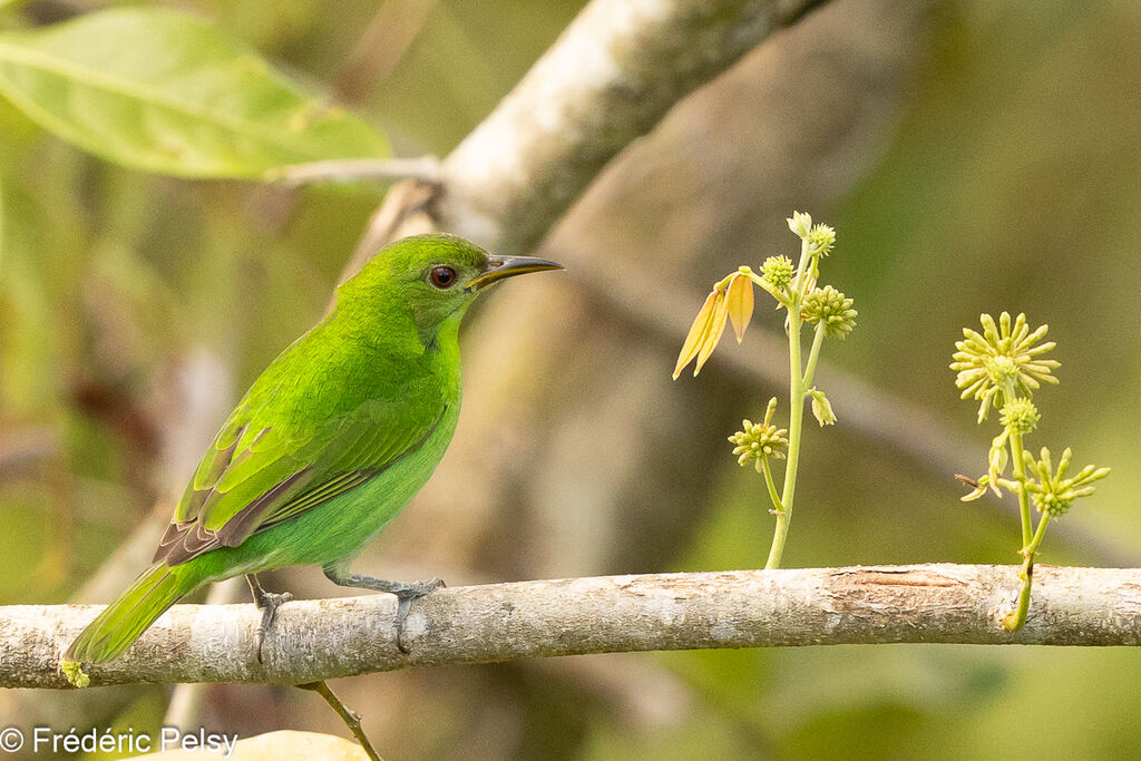
[[[883,642],[1139,645],[1141,569],[1037,566],[1029,621],[998,621],[1018,567],[930,564],[599,576],[442,589],[396,648],[388,594],[290,602],[259,664],[252,605],[180,605],[92,685],[304,683],[525,657]],[[59,653],[100,606],[0,608],[0,687],[66,687]]]

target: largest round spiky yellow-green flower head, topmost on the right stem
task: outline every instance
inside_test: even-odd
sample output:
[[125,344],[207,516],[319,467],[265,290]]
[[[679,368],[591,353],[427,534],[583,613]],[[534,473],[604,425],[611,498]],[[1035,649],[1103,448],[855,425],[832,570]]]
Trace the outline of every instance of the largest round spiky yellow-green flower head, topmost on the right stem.
[[1057,383],[1051,372],[1059,363],[1041,358],[1054,348],[1053,341],[1035,346],[1046,335],[1047,325],[1030,332],[1026,315],[1020,314],[1011,325],[1006,311],[998,316],[997,325],[994,317],[986,314],[979,322],[981,334],[963,329],[963,340],[955,342],[957,351],[952,357],[950,369],[958,373],[955,386],[963,389],[962,398],[979,400],[979,422],[982,422],[992,406],[998,407],[1017,396],[1029,397],[1041,382]]

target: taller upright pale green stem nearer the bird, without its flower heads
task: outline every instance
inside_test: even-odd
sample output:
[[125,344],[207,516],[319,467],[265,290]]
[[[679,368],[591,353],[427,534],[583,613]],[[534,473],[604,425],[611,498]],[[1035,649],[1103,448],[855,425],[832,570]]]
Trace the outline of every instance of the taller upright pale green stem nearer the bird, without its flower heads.
[[[785,480],[780,489],[780,500],[775,510],[777,525],[772,532],[772,544],[769,548],[769,559],[764,567],[779,568],[780,554],[784,552],[785,539],[788,536],[788,523],[792,520],[793,496],[796,493],[796,467],[800,464],[800,439],[803,430],[804,397],[808,384],[804,382],[804,370],[800,350],[800,310],[804,302],[807,282],[806,269],[809,260],[808,241],[800,245],[800,264],[796,267],[796,278],[793,281],[792,299],[788,307],[788,462],[785,465]],[[812,342],[809,355],[810,372],[815,371],[816,357],[819,355],[819,337]]]

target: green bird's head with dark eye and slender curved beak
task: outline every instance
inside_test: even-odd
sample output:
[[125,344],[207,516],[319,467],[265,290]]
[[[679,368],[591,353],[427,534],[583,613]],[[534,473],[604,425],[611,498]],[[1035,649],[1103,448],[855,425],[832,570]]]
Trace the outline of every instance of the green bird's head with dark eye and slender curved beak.
[[563,269],[532,257],[499,257],[458,235],[405,237],[382,249],[340,290],[339,301],[398,299],[419,330],[432,332],[462,316],[491,285],[525,273]]

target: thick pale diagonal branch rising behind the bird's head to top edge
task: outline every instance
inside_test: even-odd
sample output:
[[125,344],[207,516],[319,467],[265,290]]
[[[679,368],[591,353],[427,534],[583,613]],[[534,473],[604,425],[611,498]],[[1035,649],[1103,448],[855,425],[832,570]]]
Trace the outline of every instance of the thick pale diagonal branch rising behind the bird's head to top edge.
[[444,162],[445,229],[529,250],[686,95],[820,0],[593,0]]

